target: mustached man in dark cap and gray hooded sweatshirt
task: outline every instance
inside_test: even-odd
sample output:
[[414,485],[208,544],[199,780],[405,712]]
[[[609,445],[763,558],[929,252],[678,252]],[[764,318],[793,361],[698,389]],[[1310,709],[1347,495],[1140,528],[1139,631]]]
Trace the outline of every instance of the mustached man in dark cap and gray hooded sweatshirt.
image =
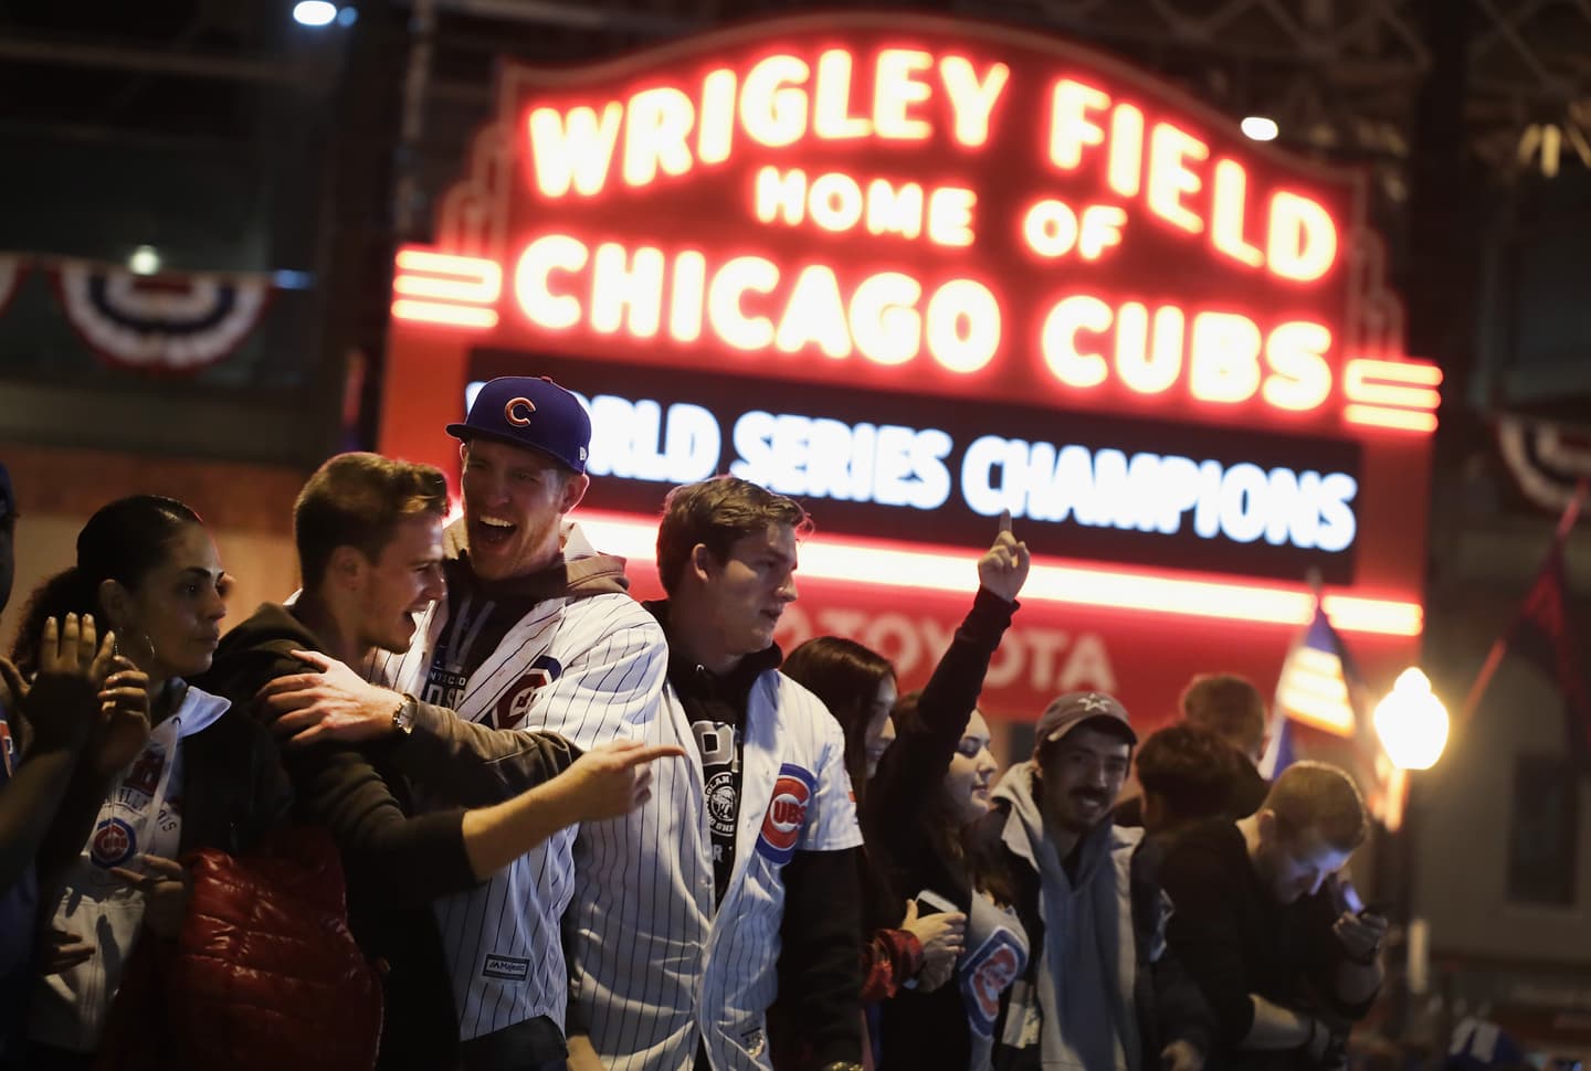
[[1204,1065],[1209,1009],[1165,953],[1142,831],[1111,820],[1134,744],[1112,696],[1068,693],[1039,718],[1033,760],[994,791],[982,829],[999,844],[991,887],[1015,904],[1033,949],[1002,999],[998,1054],[1037,1049],[1045,1068],[1085,1071]]

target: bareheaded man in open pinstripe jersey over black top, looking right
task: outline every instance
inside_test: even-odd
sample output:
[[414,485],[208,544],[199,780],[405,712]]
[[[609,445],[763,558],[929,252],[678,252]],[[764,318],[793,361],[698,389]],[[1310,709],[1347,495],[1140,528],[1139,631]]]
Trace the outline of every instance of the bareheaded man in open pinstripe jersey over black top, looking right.
[[770,1071],[767,1009],[807,1066],[859,1066],[861,907],[845,737],[778,672],[807,513],[718,477],[675,488],[657,532],[668,688],[646,742],[654,799],[576,842],[570,1066]]

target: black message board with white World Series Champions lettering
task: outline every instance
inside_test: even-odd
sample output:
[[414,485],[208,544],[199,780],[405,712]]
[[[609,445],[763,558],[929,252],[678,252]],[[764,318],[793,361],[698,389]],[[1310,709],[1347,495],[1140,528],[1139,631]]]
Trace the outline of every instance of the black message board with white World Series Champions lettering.
[[[471,394],[523,364],[477,353]],[[536,367],[581,377],[573,361]],[[805,501],[826,536],[929,531],[977,545],[1009,508],[1039,555],[1352,578],[1354,443],[641,365],[605,373],[613,386],[582,396],[597,508],[651,515],[668,488],[733,472]]]

